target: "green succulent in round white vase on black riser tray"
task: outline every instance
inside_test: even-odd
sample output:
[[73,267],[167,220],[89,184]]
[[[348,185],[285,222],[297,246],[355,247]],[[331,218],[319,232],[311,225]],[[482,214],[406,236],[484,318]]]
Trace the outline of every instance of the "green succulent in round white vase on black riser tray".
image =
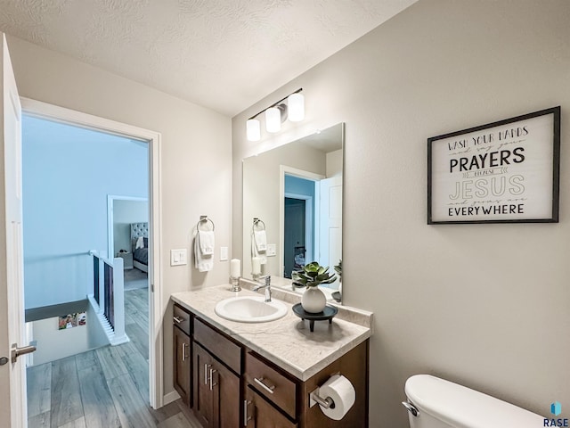
[[316,314],[322,312],[327,305],[327,298],[317,285],[334,283],[337,276],[329,273],[329,267],[312,261],[306,264],[302,271],[294,272],[293,279],[297,284],[306,286],[306,291],[301,297],[301,306],[306,312]]

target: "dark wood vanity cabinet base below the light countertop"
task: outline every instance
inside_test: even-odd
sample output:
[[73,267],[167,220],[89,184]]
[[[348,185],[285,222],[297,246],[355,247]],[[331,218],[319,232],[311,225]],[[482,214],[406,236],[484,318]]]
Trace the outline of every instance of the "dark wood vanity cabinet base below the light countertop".
[[[189,319],[191,373],[184,374],[175,367],[175,385],[183,396],[188,390],[181,383],[191,380],[191,394],[185,392],[190,399],[185,402],[190,403],[204,428],[368,426],[368,340],[303,382],[199,316]],[[176,330],[182,329],[175,327],[175,354],[180,356],[176,364],[187,367],[187,354],[183,358],[184,335],[178,339]],[[354,406],[340,421],[324,416],[318,405],[311,407],[309,399],[309,394],[334,374],[345,375],[356,391]]]

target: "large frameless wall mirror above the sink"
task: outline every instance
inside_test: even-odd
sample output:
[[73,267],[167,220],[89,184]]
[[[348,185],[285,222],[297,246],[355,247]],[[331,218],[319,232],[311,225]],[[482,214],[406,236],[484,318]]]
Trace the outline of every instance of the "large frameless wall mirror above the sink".
[[[291,272],[314,260],[335,271],[342,259],[343,143],[339,123],[243,160],[244,277],[253,276],[252,257],[263,241],[256,256],[273,286],[304,292]],[[263,230],[256,241],[254,231]],[[339,301],[339,285],[338,278],[323,291]]]

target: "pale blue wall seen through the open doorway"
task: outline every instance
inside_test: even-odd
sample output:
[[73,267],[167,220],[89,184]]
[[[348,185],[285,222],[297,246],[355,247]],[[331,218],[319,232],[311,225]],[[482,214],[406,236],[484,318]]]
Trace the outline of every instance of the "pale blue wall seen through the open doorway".
[[90,250],[107,251],[107,195],[148,195],[148,144],[22,120],[26,309],[84,300]]

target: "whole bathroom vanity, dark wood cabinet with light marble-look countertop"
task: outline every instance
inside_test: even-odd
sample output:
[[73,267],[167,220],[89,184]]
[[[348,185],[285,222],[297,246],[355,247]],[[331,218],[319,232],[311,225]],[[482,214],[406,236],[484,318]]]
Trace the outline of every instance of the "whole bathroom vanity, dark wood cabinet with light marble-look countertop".
[[[273,296],[298,299],[282,293]],[[371,313],[340,307],[331,325],[316,323],[313,333],[290,308],[267,323],[218,317],[216,302],[235,295],[223,285],[172,296],[175,389],[204,428],[368,426]],[[356,397],[338,421],[309,397],[334,374],[353,384]]]

